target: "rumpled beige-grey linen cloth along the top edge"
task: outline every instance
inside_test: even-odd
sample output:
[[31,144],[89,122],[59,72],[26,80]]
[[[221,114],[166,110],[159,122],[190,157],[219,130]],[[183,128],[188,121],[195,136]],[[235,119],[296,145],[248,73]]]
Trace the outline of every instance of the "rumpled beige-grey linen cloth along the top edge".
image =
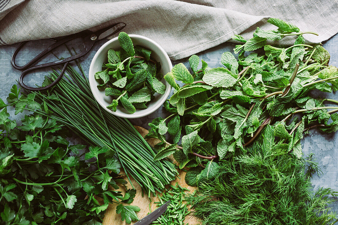
[[123,31],[153,39],[176,60],[231,41],[234,34],[249,39],[257,26],[276,29],[267,23],[270,17],[318,32],[304,37],[319,43],[338,32],[337,8],[337,0],[0,0],[0,45],[124,22]]

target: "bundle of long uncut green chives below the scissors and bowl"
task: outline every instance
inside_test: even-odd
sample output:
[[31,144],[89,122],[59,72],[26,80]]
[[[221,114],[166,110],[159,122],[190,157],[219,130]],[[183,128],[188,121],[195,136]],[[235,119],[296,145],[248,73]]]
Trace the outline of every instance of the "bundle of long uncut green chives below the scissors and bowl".
[[[116,117],[100,106],[94,99],[89,81],[78,64],[82,75],[73,67],[52,91],[36,92],[35,101],[48,107],[51,114],[36,109],[36,112],[65,124],[81,139],[95,146],[105,146],[116,151],[126,174],[131,175],[148,193],[161,191],[175,179],[177,170],[172,162],[164,159],[154,161],[156,151],[127,119]],[[58,72],[50,74],[51,79]],[[51,98],[54,95],[57,98]],[[128,177],[129,179],[129,177]]]

